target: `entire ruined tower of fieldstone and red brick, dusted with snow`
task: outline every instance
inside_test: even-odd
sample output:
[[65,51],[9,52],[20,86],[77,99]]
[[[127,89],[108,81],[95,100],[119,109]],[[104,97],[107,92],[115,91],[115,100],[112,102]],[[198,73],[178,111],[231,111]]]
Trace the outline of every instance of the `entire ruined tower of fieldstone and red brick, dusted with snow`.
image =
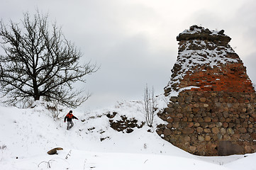
[[255,89],[224,30],[191,26],[165,87],[169,103],[157,133],[201,156],[256,152]]

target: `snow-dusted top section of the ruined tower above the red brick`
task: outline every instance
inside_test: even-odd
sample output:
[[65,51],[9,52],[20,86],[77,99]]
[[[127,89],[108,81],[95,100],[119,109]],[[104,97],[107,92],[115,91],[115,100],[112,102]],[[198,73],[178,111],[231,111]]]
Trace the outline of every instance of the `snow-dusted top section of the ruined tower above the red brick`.
[[223,67],[226,63],[242,62],[228,45],[231,38],[223,33],[224,30],[191,26],[189,30],[184,30],[177,36],[179,41],[177,62],[172,69],[171,79],[165,87],[165,94],[177,94],[177,91],[181,90],[178,84],[188,72],[194,72],[195,67],[201,68],[203,65],[208,68]]

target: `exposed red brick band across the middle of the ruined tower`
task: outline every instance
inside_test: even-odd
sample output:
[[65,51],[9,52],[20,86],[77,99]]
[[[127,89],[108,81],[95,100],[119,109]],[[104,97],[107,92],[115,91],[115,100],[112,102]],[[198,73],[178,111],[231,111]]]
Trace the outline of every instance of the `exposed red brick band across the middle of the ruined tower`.
[[[204,70],[204,71],[202,71]],[[243,63],[223,64],[223,67],[194,68],[187,72],[179,87],[198,86],[191,91],[227,91],[254,93],[252,82],[247,77]]]

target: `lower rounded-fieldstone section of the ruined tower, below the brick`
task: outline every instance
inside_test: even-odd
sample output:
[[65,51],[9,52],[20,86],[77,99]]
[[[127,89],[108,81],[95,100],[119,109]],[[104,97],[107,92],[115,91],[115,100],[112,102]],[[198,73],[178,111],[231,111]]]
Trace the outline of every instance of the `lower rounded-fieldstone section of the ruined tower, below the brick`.
[[191,154],[223,155],[220,141],[232,142],[226,154],[256,152],[254,102],[255,94],[183,91],[158,115],[167,125],[158,125],[157,133]]

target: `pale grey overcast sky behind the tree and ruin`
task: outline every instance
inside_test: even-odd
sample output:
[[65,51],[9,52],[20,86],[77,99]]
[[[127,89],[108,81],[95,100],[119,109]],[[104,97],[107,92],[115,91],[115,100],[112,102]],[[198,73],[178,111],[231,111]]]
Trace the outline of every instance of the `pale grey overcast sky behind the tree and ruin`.
[[1,1],[0,16],[19,21],[36,8],[81,49],[82,62],[101,66],[87,77],[92,96],[84,109],[141,100],[145,84],[162,94],[177,60],[176,36],[194,24],[225,30],[256,82],[255,0],[11,0]]

